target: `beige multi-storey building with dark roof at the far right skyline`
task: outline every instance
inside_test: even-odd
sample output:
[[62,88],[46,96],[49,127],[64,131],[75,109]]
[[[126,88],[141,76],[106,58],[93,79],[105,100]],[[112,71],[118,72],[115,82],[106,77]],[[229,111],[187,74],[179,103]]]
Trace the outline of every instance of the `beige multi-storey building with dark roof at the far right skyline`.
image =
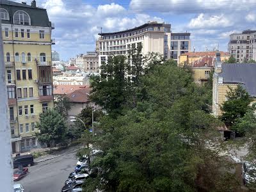
[[233,33],[228,42],[228,52],[236,61],[243,63],[256,60],[256,31],[245,30],[242,33]]

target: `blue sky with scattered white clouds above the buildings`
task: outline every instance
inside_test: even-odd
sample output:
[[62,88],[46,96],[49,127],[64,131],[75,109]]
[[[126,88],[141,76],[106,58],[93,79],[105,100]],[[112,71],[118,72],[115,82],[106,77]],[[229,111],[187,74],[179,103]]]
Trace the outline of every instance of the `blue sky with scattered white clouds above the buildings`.
[[[24,1],[24,0],[20,0]],[[17,1],[20,3],[20,1]],[[31,1],[27,1],[31,3]],[[227,51],[229,35],[256,29],[255,0],[37,0],[54,22],[53,51],[67,61],[95,50],[102,32],[134,28],[148,21],[171,24],[173,33],[191,33],[191,50]]]

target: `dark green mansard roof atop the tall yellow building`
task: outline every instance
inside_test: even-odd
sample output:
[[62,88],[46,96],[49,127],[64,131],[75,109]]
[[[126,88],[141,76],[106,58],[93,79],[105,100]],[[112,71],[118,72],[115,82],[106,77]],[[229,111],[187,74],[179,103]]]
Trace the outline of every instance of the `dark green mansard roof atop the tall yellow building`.
[[13,13],[22,10],[29,14],[31,26],[51,27],[47,11],[44,8],[33,7],[28,4],[0,0],[0,8],[4,8],[10,15],[10,20],[1,20],[3,24],[13,24]]

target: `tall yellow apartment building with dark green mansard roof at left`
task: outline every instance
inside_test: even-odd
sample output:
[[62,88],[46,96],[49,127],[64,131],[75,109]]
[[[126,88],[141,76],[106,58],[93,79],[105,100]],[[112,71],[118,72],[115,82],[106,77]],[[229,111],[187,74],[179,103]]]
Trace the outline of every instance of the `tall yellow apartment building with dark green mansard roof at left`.
[[[38,16],[39,15],[39,16]],[[45,9],[13,1],[0,1],[8,115],[12,151],[40,147],[35,128],[40,113],[53,107],[51,33]]]

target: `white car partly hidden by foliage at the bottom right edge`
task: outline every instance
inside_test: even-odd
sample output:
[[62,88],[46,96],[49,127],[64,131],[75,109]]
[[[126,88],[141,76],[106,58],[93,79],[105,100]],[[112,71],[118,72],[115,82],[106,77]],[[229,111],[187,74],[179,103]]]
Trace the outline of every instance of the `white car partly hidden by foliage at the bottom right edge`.
[[253,163],[244,162],[242,166],[242,176],[244,185],[256,182],[256,166]]

